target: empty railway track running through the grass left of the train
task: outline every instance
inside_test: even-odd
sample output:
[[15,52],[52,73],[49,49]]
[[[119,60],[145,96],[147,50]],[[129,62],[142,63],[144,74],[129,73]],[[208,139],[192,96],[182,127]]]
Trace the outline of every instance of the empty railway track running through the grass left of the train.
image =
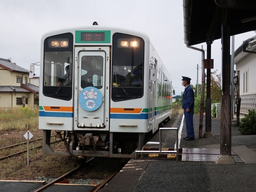
[[[56,136],[56,135],[52,135],[51,137],[54,137],[54,136]],[[29,141],[29,144],[34,143],[34,142],[37,142],[37,141],[40,141],[40,140],[43,140],[43,138],[39,138],[39,139],[35,139],[35,140],[30,140],[30,141]],[[52,144],[52,143],[59,142],[59,141],[61,141],[61,139],[60,139],[60,140],[52,141],[51,144]],[[11,148],[19,147],[19,146],[21,146],[21,145],[24,145],[24,146],[25,146],[24,148],[26,148],[26,147],[27,147],[27,146],[26,146],[27,143],[28,143],[28,142],[22,142],[22,143],[14,144],[14,145],[7,146],[7,147],[4,147],[4,148],[0,148],[0,151],[4,151],[4,150],[11,149]],[[38,146],[36,146],[36,147],[29,148],[29,150],[32,150],[32,149],[35,149],[35,148],[40,148],[40,147],[42,147],[42,146],[43,146],[43,145],[38,145]],[[3,160],[3,159],[6,159],[6,158],[8,158],[8,157],[12,157],[12,156],[15,156],[15,155],[19,155],[19,154],[25,153],[25,152],[27,152],[27,151],[28,151],[28,150],[26,149],[26,150],[18,151],[18,152],[16,152],[16,153],[12,153],[12,154],[10,154],[10,155],[3,156],[3,157],[0,157],[0,160]],[[2,153],[2,152],[1,152],[1,153]]]

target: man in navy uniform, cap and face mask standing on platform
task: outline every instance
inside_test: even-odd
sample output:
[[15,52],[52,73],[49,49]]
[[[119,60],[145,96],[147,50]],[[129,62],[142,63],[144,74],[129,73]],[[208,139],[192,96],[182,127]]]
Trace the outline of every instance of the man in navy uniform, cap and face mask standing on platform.
[[182,108],[184,109],[184,116],[187,128],[187,137],[183,137],[184,140],[194,140],[194,124],[193,124],[193,115],[194,115],[194,106],[195,106],[195,97],[194,90],[190,86],[191,78],[182,76],[182,86],[185,87],[183,97],[182,97]]

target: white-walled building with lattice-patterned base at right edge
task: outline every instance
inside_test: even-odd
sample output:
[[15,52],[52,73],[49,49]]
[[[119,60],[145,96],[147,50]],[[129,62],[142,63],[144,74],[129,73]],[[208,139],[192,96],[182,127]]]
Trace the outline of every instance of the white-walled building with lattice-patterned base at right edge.
[[[234,96],[241,98],[240,113],[248,114],[248,109],[256,110],[256,36],[243,41],[234,54],[236,77]],[[236,78],[235,78],[236,79]],[[237,91],[237,92],[236,92]]]

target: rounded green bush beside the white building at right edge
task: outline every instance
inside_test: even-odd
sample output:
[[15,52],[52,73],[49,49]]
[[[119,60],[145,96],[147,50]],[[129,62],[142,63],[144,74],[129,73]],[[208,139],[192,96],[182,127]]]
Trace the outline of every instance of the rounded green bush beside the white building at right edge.
[[256,134],[256,112],[255,110],[248,110],[248,115],[242,118],[239,124],[238,131],[243,135]]

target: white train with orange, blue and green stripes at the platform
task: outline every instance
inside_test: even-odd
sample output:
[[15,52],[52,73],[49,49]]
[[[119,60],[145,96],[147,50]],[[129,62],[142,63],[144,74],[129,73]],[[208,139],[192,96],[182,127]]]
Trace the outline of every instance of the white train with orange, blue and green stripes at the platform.
[[[50,32],[40,62],[44,154],[134,158],[172,115],[171,76],[142,32],[98,25]],[[64,132],[67,152],[51,148],[51,130]]]

